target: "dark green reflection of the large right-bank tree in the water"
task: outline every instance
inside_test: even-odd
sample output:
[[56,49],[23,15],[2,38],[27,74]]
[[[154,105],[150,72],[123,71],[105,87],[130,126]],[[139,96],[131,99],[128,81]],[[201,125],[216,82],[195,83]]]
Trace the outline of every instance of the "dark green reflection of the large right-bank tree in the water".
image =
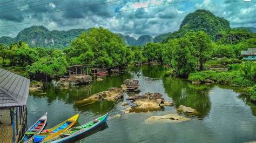
[[200,115],[205,117],[211,110],[209,98],[210,86],[192,85],[185,80],[176,78],[163,78],[165,92],[172,98],[176,107],[184,105],[194,108]]

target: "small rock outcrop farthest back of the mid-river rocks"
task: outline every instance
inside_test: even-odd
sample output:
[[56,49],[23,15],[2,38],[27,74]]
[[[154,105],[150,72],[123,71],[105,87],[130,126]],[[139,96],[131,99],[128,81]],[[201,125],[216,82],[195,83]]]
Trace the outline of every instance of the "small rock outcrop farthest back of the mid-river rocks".
[[125,79],[124,84],[121,85],[124,91],[137,91],[139,88],[139,80]]

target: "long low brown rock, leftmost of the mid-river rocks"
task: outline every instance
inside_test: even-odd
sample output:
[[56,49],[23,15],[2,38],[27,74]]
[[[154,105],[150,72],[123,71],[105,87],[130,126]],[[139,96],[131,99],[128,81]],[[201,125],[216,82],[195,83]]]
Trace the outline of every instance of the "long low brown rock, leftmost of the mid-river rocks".
[[108,101],[117,101],[123,98],[123,90],[121,88],[111,87],[108,91],[99,92],[93,94],[92,96],[76,101],[76,104],[92,104],[100,99],[108,100]]

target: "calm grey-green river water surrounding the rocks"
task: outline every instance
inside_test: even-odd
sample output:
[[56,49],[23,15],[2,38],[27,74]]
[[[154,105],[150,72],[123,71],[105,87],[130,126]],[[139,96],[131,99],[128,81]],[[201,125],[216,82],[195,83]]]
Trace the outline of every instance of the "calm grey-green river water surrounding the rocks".
[[[138,70],[142,76],[137,77]],[[48,84],[46,94],[31,94],[28,99],[28,126],[48,111],[48,126],[57,125],[81,112],[79,124],[110,112],[107,125],[77,142],[245,142],[256,140],[256,106],[230,87],[219,85],[194,86],[183,79],[164,78],[164,67],[133,68],[123,76],[103,77],[91,85],[59,88]],[[163,111],[123,114],[122,101],[100,101],[91,105],[76,105],[75,101],[109,87],[120,87],[124,79],[139,79],[139,94],[159,92],[178,105],[190,106],[199,117],[180,123],[144,124],[152,115],[177,113],[176,107]],[[127,94],[125,95],[128,96]],[[126,98],[125,97],[125,98]],[[120,118],[113,115],[121,114]]]

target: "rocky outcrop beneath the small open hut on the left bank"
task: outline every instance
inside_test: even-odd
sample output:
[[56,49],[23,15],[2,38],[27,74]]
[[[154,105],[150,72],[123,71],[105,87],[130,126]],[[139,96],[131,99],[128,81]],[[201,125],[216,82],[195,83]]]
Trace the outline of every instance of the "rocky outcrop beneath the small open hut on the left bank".
[[81,84],[89,84],[92,81],[92,77],[90,75],[76,75],[70,76],[69,78],[60,78],[57,84],[62,86],[70,86],[70,85],[81,85]]

